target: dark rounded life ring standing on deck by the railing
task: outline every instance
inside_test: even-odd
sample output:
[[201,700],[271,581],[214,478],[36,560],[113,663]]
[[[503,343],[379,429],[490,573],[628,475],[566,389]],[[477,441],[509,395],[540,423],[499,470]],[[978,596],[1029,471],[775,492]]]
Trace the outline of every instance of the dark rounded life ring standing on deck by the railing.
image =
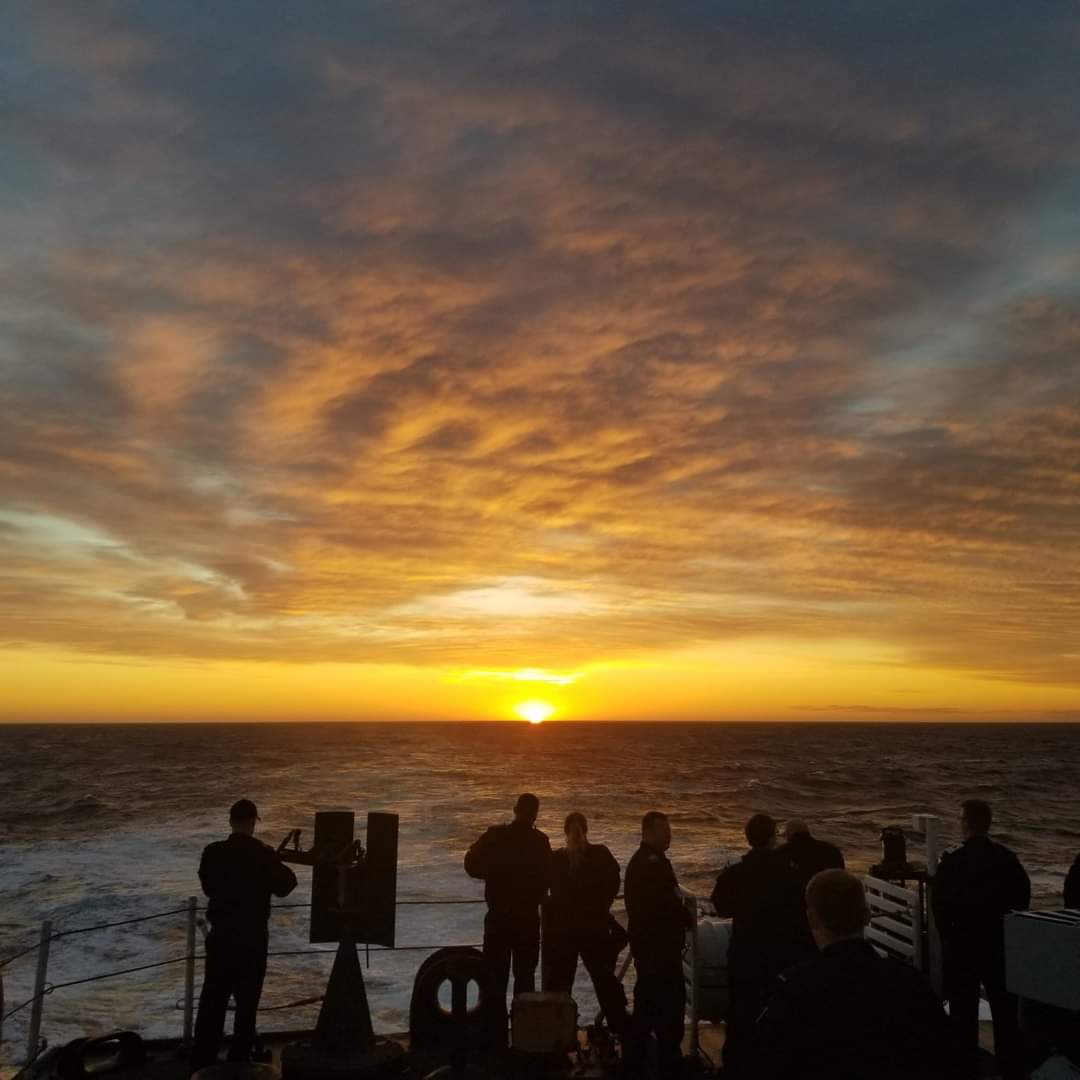
[[[438,991],[450,984],[454,1005],[446,1010]],[[475,983],[476,1003],[467,993]],[[420,964],[409,1002],[409,1041],[415,1047],[445,1050],[492,1050],[507,1044],[507,1004],[484,955],[475,948],[451,946],[432,953]]]

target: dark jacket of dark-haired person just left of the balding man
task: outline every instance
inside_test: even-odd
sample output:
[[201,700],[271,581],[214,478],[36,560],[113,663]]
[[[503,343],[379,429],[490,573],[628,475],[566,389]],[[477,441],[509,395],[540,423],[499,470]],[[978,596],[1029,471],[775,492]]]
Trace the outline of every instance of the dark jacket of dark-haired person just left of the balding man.
[[728,964],[733,977],[771,978],[805,948],[802,890],[779,851],[753,848],[723,869],[713,906],[731,919]]

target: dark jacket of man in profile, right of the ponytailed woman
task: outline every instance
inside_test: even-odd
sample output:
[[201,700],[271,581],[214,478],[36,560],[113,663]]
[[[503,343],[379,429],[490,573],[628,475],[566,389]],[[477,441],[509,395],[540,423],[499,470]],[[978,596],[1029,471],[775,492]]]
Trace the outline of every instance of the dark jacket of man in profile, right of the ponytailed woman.
[[690,916],[675,870],[662,851],[643,843],[626,864],[630,947],[638,963],[678,963]]

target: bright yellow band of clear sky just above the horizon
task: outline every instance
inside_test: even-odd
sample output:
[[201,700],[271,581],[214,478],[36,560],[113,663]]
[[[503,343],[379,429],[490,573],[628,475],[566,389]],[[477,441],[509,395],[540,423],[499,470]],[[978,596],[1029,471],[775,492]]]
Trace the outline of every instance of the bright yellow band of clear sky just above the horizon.
[[1072,687],[904,664],[866,644],[782,639],[586,665],[572,686],[540,684],[525,699],[518,680],[462,681],[460,671],[435,666],[32,648],[0,650],[0,686],[2,718],[30,723],[528,719],[516,706],[534,701],[570,720],[1080,719]]

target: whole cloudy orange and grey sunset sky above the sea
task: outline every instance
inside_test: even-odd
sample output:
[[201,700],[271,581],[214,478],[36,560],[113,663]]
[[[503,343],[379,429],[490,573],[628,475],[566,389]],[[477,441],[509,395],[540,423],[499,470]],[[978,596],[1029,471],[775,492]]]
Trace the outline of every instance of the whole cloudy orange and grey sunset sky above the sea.
[[1076,4],[4,24],[0,719],[1080,719]]

